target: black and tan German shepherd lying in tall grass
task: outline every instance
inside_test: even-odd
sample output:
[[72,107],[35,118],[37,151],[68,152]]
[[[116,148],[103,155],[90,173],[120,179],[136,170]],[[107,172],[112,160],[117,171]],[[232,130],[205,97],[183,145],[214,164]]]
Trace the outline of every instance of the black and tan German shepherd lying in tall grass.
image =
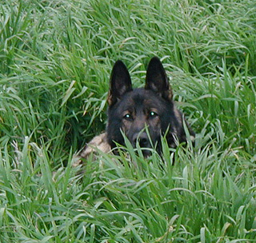
[[95,148],[107,153],[118,153],[117,145],[125,145],[124,135],[134,149],[139,145],[148,157],[150,149],[161,153],[161,137],[165,136],[171,148],[177,142],[187,141],[184,124],[190,137],[195,133],[173,100],[173,91],[166,71],[159,58],[151,58],[146,70],[144,88],[133,89],[125,64],[115,62],[110,75],[110,90],[107,98],[106,132],[94,137],[82,150],[81,157],[88,157]]

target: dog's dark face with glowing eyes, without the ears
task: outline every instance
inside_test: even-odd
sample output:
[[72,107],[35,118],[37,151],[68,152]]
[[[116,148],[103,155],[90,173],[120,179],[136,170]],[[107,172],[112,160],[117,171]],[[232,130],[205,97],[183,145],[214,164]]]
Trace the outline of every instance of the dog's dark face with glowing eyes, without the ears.
[[151,143],[155,145],[161,140],[162,131],[169,125],[166,110],[170,110],[170,106],[152,90],[127,92],[109,109],[108,134],[112,135],[111,140],[123,145],[121,129],[134,147],[138,142],[141,147],[150,148]]

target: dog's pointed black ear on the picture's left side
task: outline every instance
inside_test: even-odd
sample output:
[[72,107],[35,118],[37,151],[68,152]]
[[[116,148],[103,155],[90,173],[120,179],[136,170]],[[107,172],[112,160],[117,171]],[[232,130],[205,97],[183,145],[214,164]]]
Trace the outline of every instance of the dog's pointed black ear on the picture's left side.
[[110,76],[110,91],[107,98],[109,106],[113,106],[122,95],[131,90],[130,74],[125,64],[118,60],[114,63]]

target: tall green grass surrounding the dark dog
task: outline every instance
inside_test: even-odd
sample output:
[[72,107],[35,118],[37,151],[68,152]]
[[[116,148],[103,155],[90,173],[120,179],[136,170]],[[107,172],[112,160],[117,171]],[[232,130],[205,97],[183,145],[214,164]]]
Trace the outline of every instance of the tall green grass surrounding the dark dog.
[[[154,55],[195,145],[78,173],[114,62]],[[255,67],[254,0],[2,0],[0,242],[256,242]]]

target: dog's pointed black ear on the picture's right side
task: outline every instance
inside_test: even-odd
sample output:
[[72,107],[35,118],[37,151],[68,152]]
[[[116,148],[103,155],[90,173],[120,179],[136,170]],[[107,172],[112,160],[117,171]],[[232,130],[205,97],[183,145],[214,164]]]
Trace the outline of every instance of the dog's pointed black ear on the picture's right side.
[[159,58],[151,58],[146,70],[146,90],[153,90],[166,100],[172,100],[173,92],[168,82],[166,71]]

